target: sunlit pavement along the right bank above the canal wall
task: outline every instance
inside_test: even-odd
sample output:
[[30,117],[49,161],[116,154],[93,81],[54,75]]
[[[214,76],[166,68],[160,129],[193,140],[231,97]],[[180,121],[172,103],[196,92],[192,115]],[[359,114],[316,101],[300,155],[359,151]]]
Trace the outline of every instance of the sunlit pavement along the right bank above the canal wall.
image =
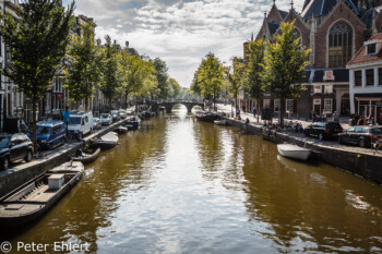
[[[217,104],[217,111],[228,113],[230,118],[231,118],[231,112],[234,111],[234,116],[236,116],[236,109],[235,108],[231,109],[230,105],[224,106],[223,104]],[[255,125],[263,124],[263,121],[261,120],[261,116],[259,116],[259,123],[258,123],[258,118],[254,118],[253,113],[242,112],[240,110],[240,114],[241,114],[241,120],[243,120],[243,121],[248,118],[252,124],[255,124]],[[296,118],[291,118],[291,119],[284,118],[284,120],[299,121],[301,123],[302,128],[307,128],[309,124],[312,123],[312,120],[305,121],[305,120],[296,119]],[[273,122],[278,122],[278,118],[273,118]],[[349,128],[349,118],[347,118],[347,117],[339,118],[339,123],[344,130],[348,129]]]

